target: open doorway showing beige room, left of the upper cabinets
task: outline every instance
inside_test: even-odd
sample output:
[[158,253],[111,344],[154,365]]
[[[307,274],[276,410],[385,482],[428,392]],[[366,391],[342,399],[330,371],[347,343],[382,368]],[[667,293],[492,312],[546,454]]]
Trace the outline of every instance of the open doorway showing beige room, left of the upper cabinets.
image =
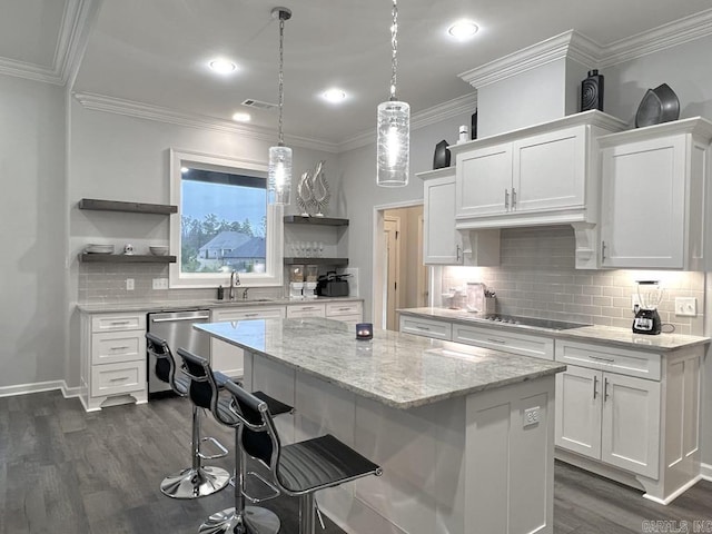
[[375,208],[374,323],[398,329],[398,308],[427,306],[429,269],[423,265],[423,205]]

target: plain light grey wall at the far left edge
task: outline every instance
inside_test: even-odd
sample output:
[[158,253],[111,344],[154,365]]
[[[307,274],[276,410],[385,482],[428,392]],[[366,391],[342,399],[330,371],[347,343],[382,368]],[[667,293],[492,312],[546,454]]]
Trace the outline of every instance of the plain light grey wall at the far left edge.
[[0,388],[63,378],[63,95],[0,76]]

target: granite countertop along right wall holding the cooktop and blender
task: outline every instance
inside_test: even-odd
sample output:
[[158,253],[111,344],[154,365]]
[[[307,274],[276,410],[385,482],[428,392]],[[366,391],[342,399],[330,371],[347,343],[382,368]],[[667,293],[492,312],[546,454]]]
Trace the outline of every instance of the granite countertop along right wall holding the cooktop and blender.
[[494,323],[487,320],[482,314],[472,314],[462,309],[448,308],[405,308],[398,309],[400,315],[423,317],[426,319],[446,319],[451,323],[467,324],[510,332],[530,332],[554,337],[555,339],[572,339],[578,342],[605,343],[624,348],[636,348],[641,350],[664,353],[676,350],[695,345],[710,343],[709,337],[685,336],[682,334],[660,334],[657,336],[646,336],[633,334],[629,328],[616,328],[612,326],[591,325],[581,328],[570,328],[557,330],[553,328],[542,328],[536,326],[512,325],[506,323]]

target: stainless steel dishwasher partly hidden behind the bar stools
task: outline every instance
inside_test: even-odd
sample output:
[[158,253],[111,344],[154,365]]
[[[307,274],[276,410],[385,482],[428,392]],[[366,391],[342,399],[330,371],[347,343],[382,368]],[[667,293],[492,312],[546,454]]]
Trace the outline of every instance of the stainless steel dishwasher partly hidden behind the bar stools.
[[[198,356],[210,358],[210,337],[196,330],[192,325],[196,323],[208,323],[210,320],[209,309],[186,309],[177,312],[161,312],[148,314],[148,332],[166,339],[174,356],[180,365],[180,357],[177,355],[178,348],[185,348]],[[170,386],[156,376],[156,358],[148,355],[146,363],[148,369],[148,396],[170,389]]]

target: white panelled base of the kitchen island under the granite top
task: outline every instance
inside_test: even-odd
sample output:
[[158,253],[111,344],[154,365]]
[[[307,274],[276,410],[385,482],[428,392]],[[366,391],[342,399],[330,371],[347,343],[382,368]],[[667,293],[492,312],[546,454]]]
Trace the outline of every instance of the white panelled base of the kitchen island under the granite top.
[[400,409],[246,352],[244,383],[295,407],[279,432],[330,433],[383,467],[319,492],[348,532],[553,533],[554,375]]

